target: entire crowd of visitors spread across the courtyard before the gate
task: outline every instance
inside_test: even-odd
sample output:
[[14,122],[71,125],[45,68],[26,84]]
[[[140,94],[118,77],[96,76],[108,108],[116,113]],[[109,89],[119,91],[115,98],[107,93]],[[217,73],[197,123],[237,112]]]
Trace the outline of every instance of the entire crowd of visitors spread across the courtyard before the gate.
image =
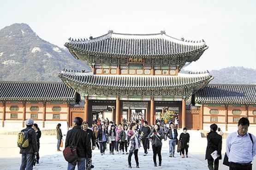
[[[168,122],[157,119],[155,125],[148,125],[148,122],[143,119],[132,122],[127,122],[124,119],[122,123],[116,125],[113,121],[106,119],[106,121],[95,120],[92,127],[89,127],[89,124],[83,122],[82,118],[76,117],[74,118],[74,127],[66,134],[65,149],[75,146],[78,158],[74,162],[68,162],[67,169],[75,170],[76,165],[78,170],[93,168],[92,150],[96,147],[100,150],[101,155],[105,155],[107,151],[111,155],[128,154],[129,168],[132,168],[131,157],[134,155],[136,168],[139,168],[138,150],[141,143],[144,156],[148,155],[151,143],[154,166],[161,166],[162,140],[167,139],[169,140],[169,157],[175,157],[175,148],[178,144],[177,151],[179,151],[181,158],[188,158],[190,135],[186,128],[183,128],[183,132],[179,135],[177,122],[179,122],[178,119]],[[34,124],[33,119],[28,119],[25,123],[27,128],[21,133],[23,140],[27,138],[29,145],[20,149],[20,153],[22,153],[20,170],[32,170],[34,161],[39,163],[41,131],[38,125]],[[247,133],[249,125],[250,122],[247,118],[241,118],[238,122],[238,131],[227,137],[225,157],[228,158],[230,170],[251,170],[251,162],[256,155],[256,137]],[[60,145],[63,138],[60,126],[58,124],[56,127],[57,151],[61,151]],[[205,154],[209,170],[219,169],[219,160],[222,159],[222,135],[223,132],[216,124],[210,126]],[[216,152],[215,157],[213,156],[214,152]]]

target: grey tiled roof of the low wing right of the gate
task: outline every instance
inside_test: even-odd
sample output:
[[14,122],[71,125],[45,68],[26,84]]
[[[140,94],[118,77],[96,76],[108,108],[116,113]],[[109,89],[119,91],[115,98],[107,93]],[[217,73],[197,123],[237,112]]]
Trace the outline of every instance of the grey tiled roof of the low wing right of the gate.
[[256,85],[207,85],[196,92],[196,102],[256,104]]

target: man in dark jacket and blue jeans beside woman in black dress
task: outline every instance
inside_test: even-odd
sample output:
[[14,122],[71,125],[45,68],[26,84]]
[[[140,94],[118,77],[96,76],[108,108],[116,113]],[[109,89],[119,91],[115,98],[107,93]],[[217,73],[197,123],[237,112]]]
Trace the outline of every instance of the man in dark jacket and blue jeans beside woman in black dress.
[[169,153],[170,153],[169,157],[174,157],[178,132],[177,132],[177,129],[174,129],[173,123],[170,124],[170,129],[167,132],[167,137],[169,138]]

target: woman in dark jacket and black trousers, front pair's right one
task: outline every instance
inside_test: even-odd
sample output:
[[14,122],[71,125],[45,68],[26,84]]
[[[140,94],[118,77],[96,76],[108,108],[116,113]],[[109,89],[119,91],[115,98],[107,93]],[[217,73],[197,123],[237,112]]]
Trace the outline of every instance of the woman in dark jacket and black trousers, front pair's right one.
[[162,165],[162,156],[161,156],[161,149],[162,149],[162,139],[164,139],[164,134],[160,130],[160,126],[158,124],[155,124],[154,130],[152,134],[150,135],[151,138],[151,143],[152,143],[152,148],[153,148],[153,160],[154,160],[154,165],[157,166],[156,164],[156,155],[158,155],[158,160],[159,160],[159,166]]

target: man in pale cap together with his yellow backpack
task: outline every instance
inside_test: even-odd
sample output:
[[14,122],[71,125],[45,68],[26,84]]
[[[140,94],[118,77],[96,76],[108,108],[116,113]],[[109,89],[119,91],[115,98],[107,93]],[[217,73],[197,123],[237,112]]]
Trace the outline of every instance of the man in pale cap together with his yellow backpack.
[[32,128],[33,119],[27,119],[26,129],[21,130],[18,134],[18,147],[22,154],[21,165],[19,170],[32,170],[35,155],[37,154],[36,131]]

